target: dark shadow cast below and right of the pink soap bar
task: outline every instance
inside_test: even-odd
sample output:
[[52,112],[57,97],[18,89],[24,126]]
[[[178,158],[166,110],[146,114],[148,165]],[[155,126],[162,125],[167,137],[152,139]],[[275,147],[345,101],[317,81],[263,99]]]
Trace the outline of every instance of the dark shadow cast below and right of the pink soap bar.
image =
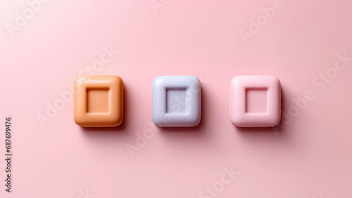
[[[284,98],[285,94],[283,89],[281,90],[281,111],[283,112],[283,109],[285,107],[285,101],[287,100],[286,98]],[[281,112],[281,113],[282,113]],[[282,117],[282,116],[281,116]],[[283,126],[283,127],[282,127]],[[283,137],[286,132],[284,130],[284,128],[286,128],[285,125],[282,124],[282,119],[279,121],[279,124],[274,126],[274,127],[236,127],[234,126],[234,128],[236,128],[236,130],[238,130],[240,132],[241,135],[274,135],[275,137]]]

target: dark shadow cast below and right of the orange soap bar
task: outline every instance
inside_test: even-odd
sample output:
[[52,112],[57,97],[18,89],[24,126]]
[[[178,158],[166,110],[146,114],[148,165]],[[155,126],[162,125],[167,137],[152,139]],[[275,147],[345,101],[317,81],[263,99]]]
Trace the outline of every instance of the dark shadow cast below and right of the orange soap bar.
[[[96,132],[99,135],[109,134],[109,133],[127,133],[125,128],[127,128],[129,123],[128,112],[130,112],[130,103],[126,98],[128,98],[129,92],[126,89],[126,85],[123,87],[123,119],[122,123],[116,127],[80,127],[82,132],[93,133]],[[127,112],[127,114],[126,114]]]

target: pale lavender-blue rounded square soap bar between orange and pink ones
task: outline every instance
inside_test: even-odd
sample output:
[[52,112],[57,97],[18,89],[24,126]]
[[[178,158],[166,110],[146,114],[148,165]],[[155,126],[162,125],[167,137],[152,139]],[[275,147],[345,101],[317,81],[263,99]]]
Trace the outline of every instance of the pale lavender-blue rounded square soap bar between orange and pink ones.
[[153,80],[153,123],[191,127],[201,121],[201,82],[194,75],[167,75]]

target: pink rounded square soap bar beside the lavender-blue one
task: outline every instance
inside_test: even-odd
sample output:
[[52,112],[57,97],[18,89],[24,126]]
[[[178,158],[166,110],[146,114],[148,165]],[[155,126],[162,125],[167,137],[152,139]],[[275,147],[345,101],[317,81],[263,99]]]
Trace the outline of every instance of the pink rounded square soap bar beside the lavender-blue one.
[[270,75],[232,79],[230,118],[237,127],[272,127],[281,120],[281,83]]

